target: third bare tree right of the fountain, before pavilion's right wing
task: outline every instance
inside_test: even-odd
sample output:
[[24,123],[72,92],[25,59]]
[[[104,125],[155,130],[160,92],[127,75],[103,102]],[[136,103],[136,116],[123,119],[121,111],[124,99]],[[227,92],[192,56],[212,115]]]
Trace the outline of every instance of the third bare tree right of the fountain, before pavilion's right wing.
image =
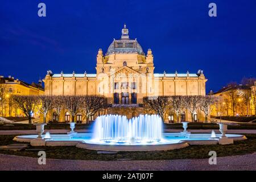
[[192,121],[195,121],[195,113],[199,108],[200,96],[184,96],[185,108],[191,113]]

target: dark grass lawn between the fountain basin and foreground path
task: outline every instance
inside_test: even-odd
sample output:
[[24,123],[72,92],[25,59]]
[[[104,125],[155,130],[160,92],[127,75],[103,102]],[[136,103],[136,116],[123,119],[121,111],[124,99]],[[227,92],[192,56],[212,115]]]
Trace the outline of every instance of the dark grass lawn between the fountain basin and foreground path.
[[[0,135],[0,144],[17,143],[14,135]],[[80,160],[164,160],[164,159],[202,159],[209,158],[209,151],[216,151],[217,156],[242,155],[256,152],[256,135],[246,134],[247,140],[236,141],[229,145],[189,146],[178,150],[152,152],[118,152],[117,154],[97,154],[97,151],[84,150],[76,147],[30,147],[43,148],[47,158],[80,159]],[[38,157],[38,151],[0,151],[2,154]]]

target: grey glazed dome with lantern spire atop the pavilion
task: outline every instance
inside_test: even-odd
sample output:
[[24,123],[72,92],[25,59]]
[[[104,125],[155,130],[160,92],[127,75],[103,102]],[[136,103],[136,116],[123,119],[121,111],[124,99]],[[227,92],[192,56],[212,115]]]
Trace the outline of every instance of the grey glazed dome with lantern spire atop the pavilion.
[[121,39],[115,40],[110,44],[106,55],[112,53],[138,53],[139,55],[145,55],[141,45],[137,40],[129,39],[129,30],[126,25],[122,29]]

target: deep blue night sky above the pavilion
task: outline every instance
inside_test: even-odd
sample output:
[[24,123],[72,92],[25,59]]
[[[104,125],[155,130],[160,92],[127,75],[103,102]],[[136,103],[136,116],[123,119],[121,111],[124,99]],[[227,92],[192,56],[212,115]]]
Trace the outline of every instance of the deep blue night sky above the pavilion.
[[[38,3],[47,6],[39,18]],[[210,2],[217,17],[208,16]],[[256,1],[2,1],[0,75],[26,82],[53,73],[95,73],[98,48],[130,38],[152,49],[155,73],[203,69],[207,92],[256,77]]]

